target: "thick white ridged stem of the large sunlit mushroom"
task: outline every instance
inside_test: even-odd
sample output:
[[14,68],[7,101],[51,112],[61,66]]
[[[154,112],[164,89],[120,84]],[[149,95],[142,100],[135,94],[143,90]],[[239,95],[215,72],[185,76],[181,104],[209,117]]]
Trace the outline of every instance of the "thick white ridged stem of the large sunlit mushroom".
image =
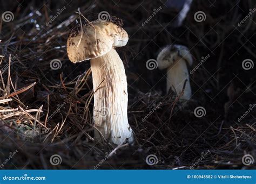
[[[127,118],[127,82],[123,61],[115,49],[98,58],[91,59],[96,128],[105,139],[120,145],[132,142],[132,129]],[[95,130],[96,139],[100,133]]]

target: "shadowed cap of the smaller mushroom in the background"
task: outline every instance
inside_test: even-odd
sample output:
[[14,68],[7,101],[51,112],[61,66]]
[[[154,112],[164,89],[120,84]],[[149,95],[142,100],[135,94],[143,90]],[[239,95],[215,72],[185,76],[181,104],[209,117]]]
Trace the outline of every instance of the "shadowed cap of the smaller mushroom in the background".
[[193,63],[192,55],[186,46],[168,45],[157,56],[158,68],[169,68],[181,59],[184,59],[190,66]]

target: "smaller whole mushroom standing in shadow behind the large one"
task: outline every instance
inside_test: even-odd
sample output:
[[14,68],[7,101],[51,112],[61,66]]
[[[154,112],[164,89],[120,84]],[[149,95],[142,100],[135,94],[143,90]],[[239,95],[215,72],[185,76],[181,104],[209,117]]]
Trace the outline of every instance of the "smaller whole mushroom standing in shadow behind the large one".
[[192,65],[192,55],[188,48],[182,45],[169,45],[166,46],[157,56],[158,68],[167,68],[167,92],[170,88],[176,91],[177,95],[183,90],[184,94],[180,97],[183,100],[191,98],[190,77],[188,75],[187,64]]

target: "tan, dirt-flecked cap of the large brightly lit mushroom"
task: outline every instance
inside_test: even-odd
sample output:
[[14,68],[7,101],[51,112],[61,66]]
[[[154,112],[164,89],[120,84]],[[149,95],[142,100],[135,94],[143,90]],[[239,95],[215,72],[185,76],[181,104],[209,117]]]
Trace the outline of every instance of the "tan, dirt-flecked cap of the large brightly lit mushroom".
[[113,47],[125,46],[129,39],[122,27],[100,20],[83,25],[82,38],[81,35],[81,27],[74,27],[69,33],[66,44],[68,57],[74,63],[98,58]]

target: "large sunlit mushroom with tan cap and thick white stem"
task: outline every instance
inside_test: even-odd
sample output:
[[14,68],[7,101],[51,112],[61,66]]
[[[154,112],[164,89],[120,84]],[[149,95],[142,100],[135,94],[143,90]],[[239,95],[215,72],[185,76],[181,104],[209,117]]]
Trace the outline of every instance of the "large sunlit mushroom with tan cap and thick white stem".
[[100,20],[83,25],[82,30],[79,26],[70,31],[67,52],[73,63],[91,61],[95,138],[102,135],[117,145],[132,143],[125,69],[115,49],[126,45],[128,34],[121,26]]

